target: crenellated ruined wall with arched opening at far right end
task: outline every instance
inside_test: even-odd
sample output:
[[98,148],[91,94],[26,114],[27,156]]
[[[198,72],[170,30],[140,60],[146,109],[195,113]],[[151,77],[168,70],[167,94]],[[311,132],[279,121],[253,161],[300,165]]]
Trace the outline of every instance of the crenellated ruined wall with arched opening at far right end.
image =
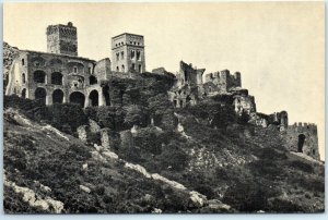
[[312,123],[295,123],[283,132],[285,146],[291,151],[300,151],[319,159],[317,125]]

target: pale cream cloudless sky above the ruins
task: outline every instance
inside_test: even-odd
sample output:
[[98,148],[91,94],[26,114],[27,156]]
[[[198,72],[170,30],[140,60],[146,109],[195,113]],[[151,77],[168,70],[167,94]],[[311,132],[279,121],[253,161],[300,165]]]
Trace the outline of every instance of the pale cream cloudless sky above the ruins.
[[79,56],[112,58],[110,37],[144,36],[145,68],[178,71],[180,60],[242,73],[257,111],[289,112],[318,125],[325,157],[325,19],[323,2],[4,3],[3,40],[46,51],[46,27],[72,22]]

